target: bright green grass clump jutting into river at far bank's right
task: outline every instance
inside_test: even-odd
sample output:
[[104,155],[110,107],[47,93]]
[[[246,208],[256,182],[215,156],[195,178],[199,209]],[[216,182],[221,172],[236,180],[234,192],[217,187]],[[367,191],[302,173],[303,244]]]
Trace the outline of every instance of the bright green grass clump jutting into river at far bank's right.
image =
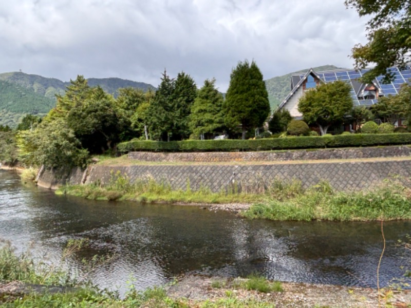
[[327,182],[288,199],[268,199],[250,207],[245,217],[271,220],[369,221],[411,219],[411,193],[386,180],[365,191],[334,191]]

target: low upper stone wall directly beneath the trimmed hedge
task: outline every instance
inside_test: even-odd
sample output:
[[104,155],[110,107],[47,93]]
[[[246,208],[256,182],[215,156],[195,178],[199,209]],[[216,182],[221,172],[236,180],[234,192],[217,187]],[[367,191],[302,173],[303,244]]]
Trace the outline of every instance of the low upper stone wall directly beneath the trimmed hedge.
[[365,148],[255,151],[255,152],[190,152],[156,153],[130,152],[128,158],[148,162],[274,162],[293,160],[358,159],[411,156],[411,147],[387,146]]

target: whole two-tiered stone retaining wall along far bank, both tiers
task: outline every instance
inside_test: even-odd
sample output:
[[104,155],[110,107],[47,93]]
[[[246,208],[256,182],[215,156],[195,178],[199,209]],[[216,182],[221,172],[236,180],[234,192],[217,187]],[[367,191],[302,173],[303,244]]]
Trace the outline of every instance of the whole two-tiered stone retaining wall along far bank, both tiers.
[[[120,171],[134,182],[142,178],[165,181],[174,189],[208,187],[212,191],[231,189],[239,186],[243,190],[258,191],[274,179],[290,181],[298,179],[304,187],[310,187],[322,180],[328,181],[334,189],[362,189],[380,183],[393,176],[411,178],[411,148],[407,146],[384,148],[330,149],[315,151],[283,152],[212,152],[212,153],[152,153],[134,152],[129,156],[140,161],[174,162],[172,165],[100,166],[91,165],[87,170],[74,169],[67,176],[53,171],[43,171],[38,184],[47,188],[57,188],[63,184],[94,183],[110,181],[113,172]],[[335,161],[335,159],[355,159],[391,157],[376,161]],[[296,162],[295,160],[300,161]],[[315,160],[322,160],[315,162]],[[327,159],[334,161],[327,162]],[[301,160],[311,160],[304,163]],[[252,164],[225,164],[225,162],[254,161]],[[271,161],[271,163],[270,163]],[[195,164],[178,164],[195,162]],[[213,164],[210,164],[213,162]],[[215,162],[221,162],[216,164]]]

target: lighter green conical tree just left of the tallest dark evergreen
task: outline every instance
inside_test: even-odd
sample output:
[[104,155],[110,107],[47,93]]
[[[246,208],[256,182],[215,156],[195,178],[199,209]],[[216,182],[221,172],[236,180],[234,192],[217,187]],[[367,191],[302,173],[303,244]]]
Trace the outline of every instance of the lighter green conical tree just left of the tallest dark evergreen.
[[197,98],[191,107],[189,126],[196,136],[200,134],[211,135],[223,129],[223,97],[214,84],[215,79],[204,81],[204,85],[198,91]]

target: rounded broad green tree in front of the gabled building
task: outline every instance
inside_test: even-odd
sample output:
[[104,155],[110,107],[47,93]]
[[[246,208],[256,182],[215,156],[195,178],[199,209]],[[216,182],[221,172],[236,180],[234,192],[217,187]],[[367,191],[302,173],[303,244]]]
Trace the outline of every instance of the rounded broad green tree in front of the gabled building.
[[352,109],[351,87],[344,81],[323,83],[307,90],[298,101],[298,111],[308,124],[319,126],[321,134],[344,119]]

